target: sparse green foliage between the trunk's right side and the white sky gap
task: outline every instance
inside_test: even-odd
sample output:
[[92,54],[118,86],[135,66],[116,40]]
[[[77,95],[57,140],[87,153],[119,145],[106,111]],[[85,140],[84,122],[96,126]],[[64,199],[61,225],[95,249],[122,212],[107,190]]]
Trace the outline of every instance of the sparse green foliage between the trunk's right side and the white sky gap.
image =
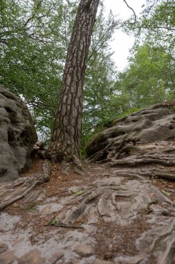
[[[84,79],[84,108],[82,122],[82,149],[100,122],[108,122],[115,115],[111,96],[115,92],[116,67],[111,60],[109,41],[120,21],[109,14],[104,18],[104,8],[95,22],[89,58]],[[82,151],[84,153],[84,151]]]

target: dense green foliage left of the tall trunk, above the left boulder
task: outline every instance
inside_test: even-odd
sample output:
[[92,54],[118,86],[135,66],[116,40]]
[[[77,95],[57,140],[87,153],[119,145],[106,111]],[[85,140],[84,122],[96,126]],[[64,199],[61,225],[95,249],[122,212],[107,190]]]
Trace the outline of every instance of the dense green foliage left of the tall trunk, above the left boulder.
[[1,1],[0,83],[25,99],[42,139],[50,138],[75,1]]

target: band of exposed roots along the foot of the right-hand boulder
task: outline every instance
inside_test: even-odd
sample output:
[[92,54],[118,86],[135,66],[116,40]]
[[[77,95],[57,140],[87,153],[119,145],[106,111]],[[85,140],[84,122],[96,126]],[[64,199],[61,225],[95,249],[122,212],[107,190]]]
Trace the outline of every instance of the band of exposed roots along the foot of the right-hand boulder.
[[[106,157],[104,153],[108,153]],[[122,173],[122,176],[137,174],[175,181],[174,142],[160,141],[134,145],[130,140],[125,141],[120,148],[110,144],[91,156],[87,163],[94,161],[105,164],[105,167],[118,167],[118,172]]]

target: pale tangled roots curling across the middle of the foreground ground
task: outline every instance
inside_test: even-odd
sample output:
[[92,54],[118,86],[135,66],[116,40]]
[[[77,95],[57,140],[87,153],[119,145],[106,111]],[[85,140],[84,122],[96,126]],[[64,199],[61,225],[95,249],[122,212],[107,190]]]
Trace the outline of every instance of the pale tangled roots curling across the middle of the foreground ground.
[[[124,178],[121,174],[119,172],[111,179],[104,178],[95,181],[93,185],[82,186],[83,192],[80,195],[66,199],[55,218],[57,222],[75,224],[83,220],[86,223],[95,223],[102,218],[107,222],[127,224],[134,218],[136,211],[141,208],[147,210],[148,206],[156,204],[158,199],[172,204],[163,193],[143,179],[141,182],[134,180],[122,183]],[[125,176],[125,172],[122,176]]]

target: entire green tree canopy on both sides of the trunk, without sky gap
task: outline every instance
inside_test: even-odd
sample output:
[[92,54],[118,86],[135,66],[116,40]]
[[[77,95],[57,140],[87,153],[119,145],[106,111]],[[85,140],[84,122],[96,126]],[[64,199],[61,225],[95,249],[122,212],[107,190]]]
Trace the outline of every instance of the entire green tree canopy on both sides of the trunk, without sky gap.
[[[2,0],[0,83],[22,97],[39,138],[48,140],[79,1]],[[125,3],[124,3],[125,4]],[[174,1],[146,1],[134,23],[121,23],[100,5],[84,79],[82,146],[91,133],[138,108],[174,99]],[[121,28],[136,36],[129,65],[118,72],[109,42]]]

